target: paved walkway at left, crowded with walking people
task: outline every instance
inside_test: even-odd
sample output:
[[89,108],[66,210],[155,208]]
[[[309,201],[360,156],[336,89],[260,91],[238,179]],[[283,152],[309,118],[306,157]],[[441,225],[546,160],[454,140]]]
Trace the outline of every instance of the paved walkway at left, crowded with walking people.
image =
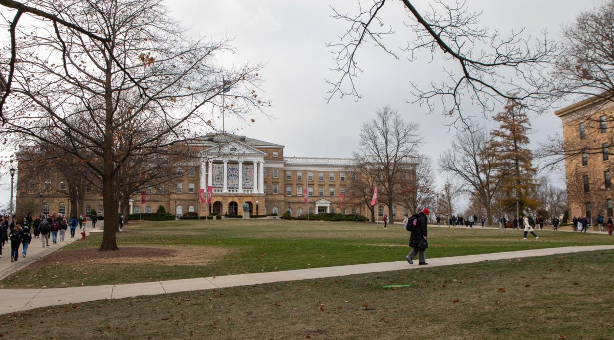
[[[87,234],[103,231],[103,223],[98,222],[96,223],[96,226],[98,228],[93,229],[91,228],[91,223],[88,223],[85,231],[87,232]],[[64,241],[60,241],[60,234],[58,234],[58,243],[52,244],[51,238],[49,238],[49,247],[44,248],[42,247],[41,239],[34,238],[33,234],[32,242],[30,242],[30,244],[28,245],[28,253],[26,254],[25,258],[21,257],[21,252],[23,252],[23,245],[20,245],[19,258],[17,262],[10,261],[10,241],[6,242],[6,244],[4,244],[4,247],[2,248],[2,258],[0,258],[0,280],[4,279],[10,274],[13,274],[16,271],[23,269],[25,266],[28,266],[30,263],[33,263],[39,258],[44,257],[45,255],[49,255],[52,252],[55,252],[55,250],[64,247],[64,245],[70,244],[76,240],[80,240],[81,231],[82,230],[77,229],[75,231],[75,237],[71,238],[71,231],[66,230],[66,238],[64,239]]]

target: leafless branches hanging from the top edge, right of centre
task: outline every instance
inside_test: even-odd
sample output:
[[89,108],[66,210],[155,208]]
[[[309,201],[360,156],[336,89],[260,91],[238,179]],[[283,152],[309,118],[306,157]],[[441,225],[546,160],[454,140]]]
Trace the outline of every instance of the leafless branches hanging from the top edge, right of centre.
[[[333,18],[348,22],[349,28],[340,35],[340,42],[328,44],[335,55],[333,71],[340,74],[337,80],[328,81],[332,89],[328,100],[334,95],[351,95],[360,98],[354,79],[363,70],[357,65],[359,47],[370,42],[384,50],[392,58],[398,53],[386,47],[383,38],[394,34],[392,27],[386,27],[381,17],[384,5],[399,2],[374,0],[369,9],[362,9],[359,2],[358,14],[340,13],[333,9]],[[392,5],[394,4],[394,5]],[[448,81],[433,82],[427,89],[412,83],[414,99],[411,102],[426,104],[433,112],[442,105],[441,112],[462,118],[463,98],[479,104],[484,114],[492,112],[505,100],[513,100],[533,109],[542,109],[542,99],[550,95],[545,91],[546,82],[537,77],[540,71],[554,62],[556,44],[546,39],[527,41],[523,30],[510,36],[500,36],[497,31],[478,26],[479,15],[469,12],[464,2],[448,5],[443,1],[429,1],[430,11],[421,12],[414,1],[400,1],[408,14],[414,40],[409,41],[401,52],[408,60],[416,60],[422,51],[430,52],[434,59],[440,52],[443,61],[453,61],[456,69],[446,70]]]

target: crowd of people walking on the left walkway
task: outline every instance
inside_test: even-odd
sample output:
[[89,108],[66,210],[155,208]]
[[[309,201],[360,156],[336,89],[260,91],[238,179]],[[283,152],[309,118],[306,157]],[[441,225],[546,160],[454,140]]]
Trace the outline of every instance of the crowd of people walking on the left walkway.
[[[85,230],[87,217],[85,215],[79,215],[78,218],[72,217],[68,220],[64,215],[40,215],[34,217],[31,214],[24,216],[23,218],[13,218],[12,222],[10,216],[3,216],[0,225],[0,257],[2,257],[2,248],[4,244],[10,240],[10,261],[17,262],[19,258],[19,249],[21,250],[21,257],[26,257],[28,252],[28,246],[32,242],[32,238],[40,238],[42,247],[49,247],[49,239],[52,244],[57,244],[58,241],[64,241],[66,238],[66,230],[70,230],[71,238],[75,237],[75,231],[77,226],[79,229]],[[96,226],[96,218],[93,216],[92,225]],[[33,235],[34,234],[34,235]],[[59,239],[59,240],[58,240]]]

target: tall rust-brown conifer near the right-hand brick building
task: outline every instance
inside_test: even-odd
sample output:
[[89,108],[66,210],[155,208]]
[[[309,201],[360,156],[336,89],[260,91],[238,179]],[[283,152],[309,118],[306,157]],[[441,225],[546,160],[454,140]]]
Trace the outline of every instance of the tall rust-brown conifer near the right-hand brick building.
[[491,152],[500,169],[503,199],[501,204],[508,211],[516,211],[516,195],[519,196],[519,211],[525,208],[537,209],[535,199],[536,169],[532,166],[533,156],[528,149],[529,117],[526,110],[516,101],[508,101],[504,110],[494,117],[499,129],[492,131],[494,141]]

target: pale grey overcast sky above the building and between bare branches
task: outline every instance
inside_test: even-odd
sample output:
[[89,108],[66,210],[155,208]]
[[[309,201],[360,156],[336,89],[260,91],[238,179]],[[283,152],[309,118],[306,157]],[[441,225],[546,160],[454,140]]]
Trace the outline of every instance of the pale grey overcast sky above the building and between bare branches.
[[[365,8],[371,1],[362,1]],[[427,1],[419,1],[421,5]],[[440,113],[428,114],[425,107],[408,104],[413,98],[410,81],[428,85],[435,79],[444,79],[438,56],[410,62],[400,48],[413,40],[411,32],[403,26],[408,15],[402,2],[389,0],[382,12],[386,25],[397,31],[386,39],[388,48],[398,52],[396,60],[381,49],[366,44],[359,49],[357,60],[365,70],[356,79],[363,98],[325,98],[330,86],[326,79],[337,80],[330,72],[333,56],[327,42],[338,42],[347,24],[335,20],[330,6],[340,12],[357,13],[357,2],[281,1],[281,0],[173,0],[168,1],[171,17],[180,21],[194,37],[211,39],[231,37],[236,55],[223,56],[222,62],[236,67],[244,63],[263,63],[265,79],[263,93],[272,106],[266,108],[271,119],[255,117],[255,123],[226,120],[226,125],[238,128],[239,134],[285,145],[286,156],[350,157],[359,142],[360,126],[375,117],[384,105],[397,110],[408,122],[421,126],[424,136],[422,153],[436,161],[438,155],[449,148],[454,129],[449,118]],[[570,23],[582,9],[590,9],[594,2],[575,0],[468,0],[472,12],[482,12],[481,25],[500,31],[506,36],[511,29],[526,29],[526,36],[540,36],[546,29],[551,39],[558,40],[561,25]],[[469,108],[470,109],[470,108]],[[479,122],[493,127],[481,118]],[[532,144],[561,131],[561,121],[553,112],[532,119]],[[7,189],[9,176],[3,176]],[[0,203],[9,201],[8,190],[0,192]]]

